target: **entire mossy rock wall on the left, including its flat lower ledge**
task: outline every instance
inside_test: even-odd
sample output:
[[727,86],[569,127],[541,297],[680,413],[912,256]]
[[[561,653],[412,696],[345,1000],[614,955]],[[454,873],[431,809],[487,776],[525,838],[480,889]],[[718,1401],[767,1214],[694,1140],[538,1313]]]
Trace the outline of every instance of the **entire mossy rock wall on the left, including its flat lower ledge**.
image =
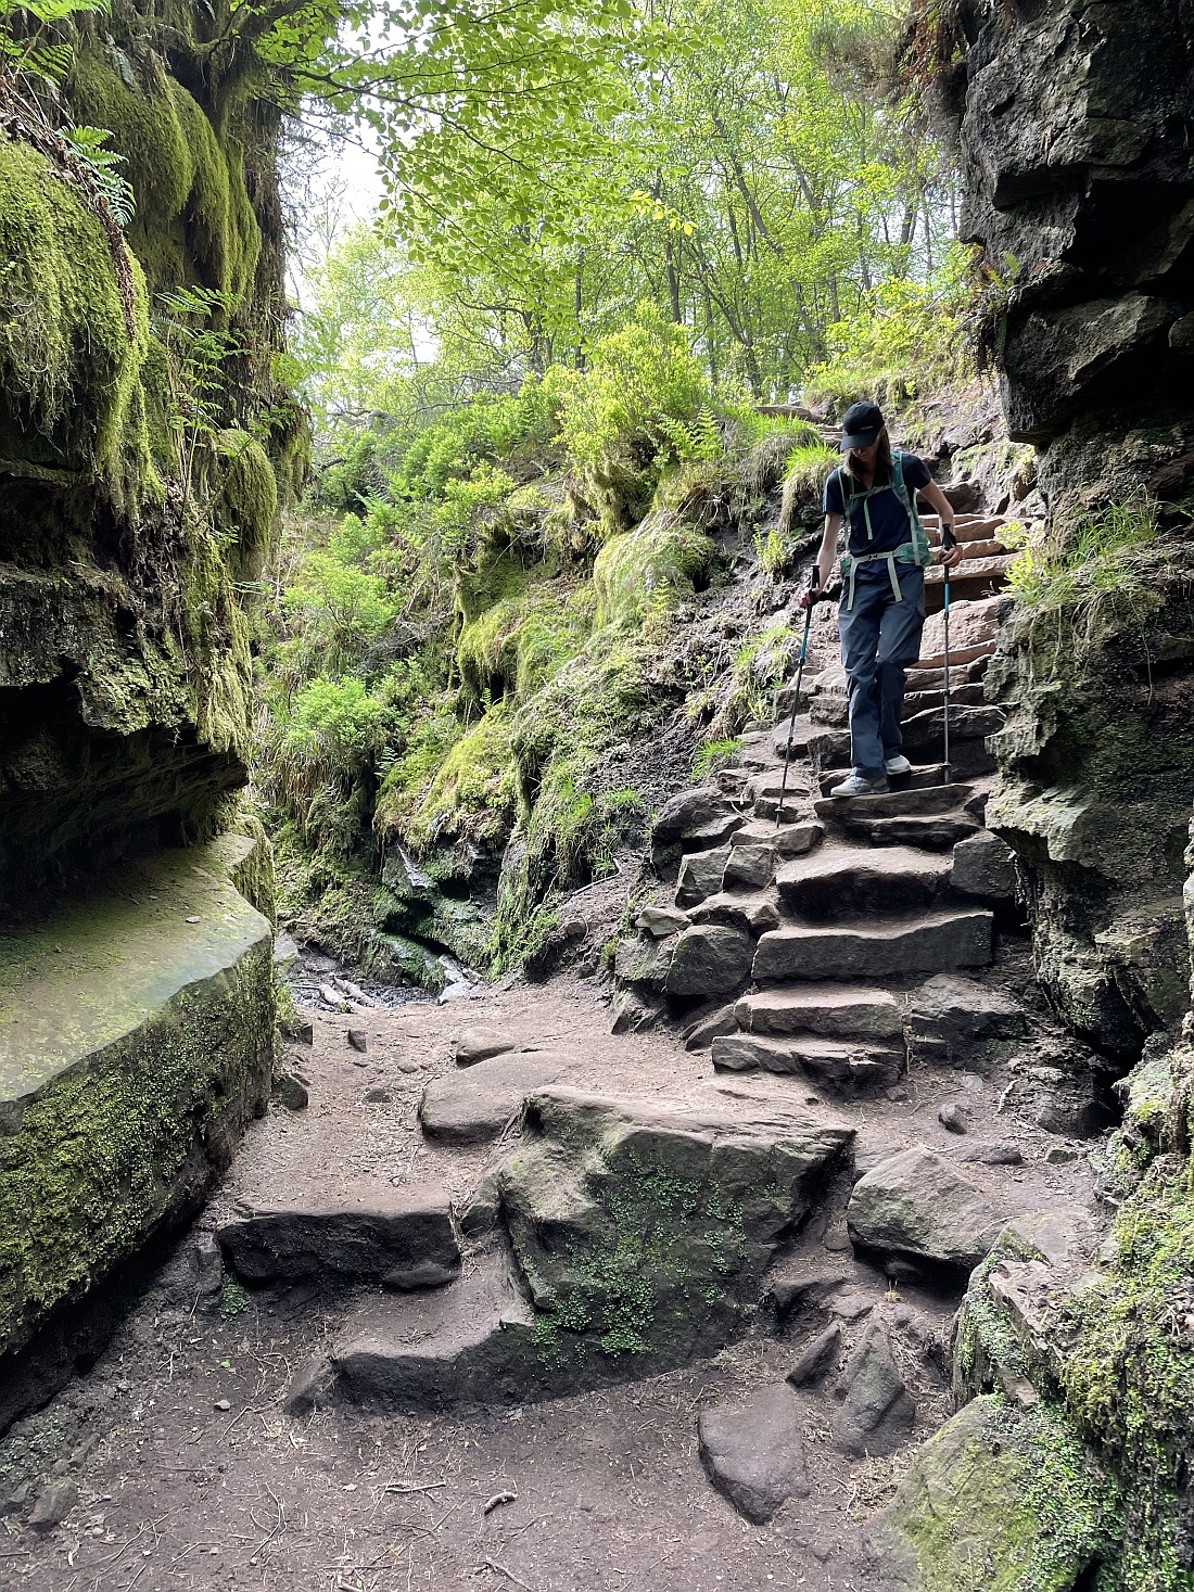
[[271,374],[285,84],[234,10],[80,13],[54,86],[0,49],[0,1426],[269,1092],[247,607],[306,433]]

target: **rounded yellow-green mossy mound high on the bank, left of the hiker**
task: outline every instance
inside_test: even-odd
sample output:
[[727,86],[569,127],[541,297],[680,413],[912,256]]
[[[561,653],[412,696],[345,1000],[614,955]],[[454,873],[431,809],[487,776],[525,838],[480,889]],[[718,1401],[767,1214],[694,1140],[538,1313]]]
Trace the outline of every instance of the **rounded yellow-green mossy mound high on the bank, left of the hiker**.
[[665,611],[708,575],[715,551],[702,530],[665,513],[611,537],[592,570],[597,627],[629,627]]

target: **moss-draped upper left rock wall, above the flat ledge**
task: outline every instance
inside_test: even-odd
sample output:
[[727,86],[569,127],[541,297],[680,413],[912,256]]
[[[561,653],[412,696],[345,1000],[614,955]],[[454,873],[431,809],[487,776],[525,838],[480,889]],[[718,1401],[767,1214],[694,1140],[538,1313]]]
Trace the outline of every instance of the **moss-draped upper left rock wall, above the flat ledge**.
[[[245,597],[302,478],[302,417],[271,374],[285,88],[247,41],[220,46],[228,6],[167,10],[73,19],[57,108],[0,116],[10,906],[226,820],[245,777]],[[132,188],[123,234],[70,124],[110,132]]]

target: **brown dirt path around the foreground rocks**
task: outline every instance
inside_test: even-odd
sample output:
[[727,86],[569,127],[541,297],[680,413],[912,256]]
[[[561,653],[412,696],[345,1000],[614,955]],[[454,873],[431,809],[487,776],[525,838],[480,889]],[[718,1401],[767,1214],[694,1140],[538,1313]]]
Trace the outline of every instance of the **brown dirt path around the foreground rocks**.
[[[729,1391],[780,1380],[799,1347],[793,1339],[759,1333],[665,1375],[514,1409],[431,1418],[342,1407],[301,1420],[283,1415],[296,1369],[326,1352],[339,1320],[365,1291],[309,1280],[245,1294],[224,1283],[221,1313],[204,1293],[210,1231],[237,1202],[312,1183],[339,1200],[366,1204],[384,1181],[439,1184],[462,1200],[492,1148],[438,1148],[423,1138],[416,1113],[427,1081],[454,1070],[451,1038],[476,1022],[567,1057],[565,1083],[654,1098],[700,1091],[731,1100],[786,1097],[849,1119],[863,1137],[919,1140],[942,1154],[958,1149],[936,1121],[941,1100],[958,1092],[955,1073],[914,1073],[906,1102],[855,1105],[821,1100],[796,1078],[724,1081],[713,1075],[708,1052],[680,1049],[667,1030],[611,1036],[597,989],[565,979],[443,1008],[350,1019],[317,1014],[315,1043],[302,1055],[309,1108],[271,1106],[220,1197],[108,1353],[0,1444],[0,1500],[32,1481],[29,1495],[0,1520],[0,1586],[43,1592],[882,1586],[882,1571],[866,1568],[861,1533],[890,1496],[909,1449],[893,1458],[845,1458],[829,1442],[825,1399],[809,1395],[804,1444],[812,1490],[790,1500],[767,1527],[736,1514],[702,1471],[699,1411]],[[347,1043],[349,1027],[365,1030],[363,1055]],[[1049,1165],[1044,1154],[1057,1140],[997,1113],[1000,1076],[973,1083],[966,1097],[973,1132],[1006,1138],[1014,1130],[1025,1156],[1022,1167],[982,1169],[989,1186],[1027,1207],[1087,1204],[1086,1162]],[[806,1258],[841,1264],[839,1227],[837,1208],[810,1223],[801,1239]],[[936,1345],[936,1360],[927,1352],[904,1366],[922,1439],[950,1407],[941,1363],[955,1297],[906,1286],[893,1294],[877,1272],[856,1269],[856,1275],[869,1312],[901,1312],[898,1318],[930,1350]],[[807,1329],[804,1323],[801,1336]],[[65,1517],[40,1535],[25,1524],[29,1498],[54,1474],[67,1487]]]

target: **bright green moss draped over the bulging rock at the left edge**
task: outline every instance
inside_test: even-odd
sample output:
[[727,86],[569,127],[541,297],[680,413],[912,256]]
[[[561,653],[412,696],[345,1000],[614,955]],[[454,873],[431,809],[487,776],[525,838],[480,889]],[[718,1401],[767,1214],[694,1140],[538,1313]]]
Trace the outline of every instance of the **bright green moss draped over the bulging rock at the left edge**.
[[53,162],[0,135],[0,458],[103,478],[116,501],[159,492],[140,369],[111,240]]

